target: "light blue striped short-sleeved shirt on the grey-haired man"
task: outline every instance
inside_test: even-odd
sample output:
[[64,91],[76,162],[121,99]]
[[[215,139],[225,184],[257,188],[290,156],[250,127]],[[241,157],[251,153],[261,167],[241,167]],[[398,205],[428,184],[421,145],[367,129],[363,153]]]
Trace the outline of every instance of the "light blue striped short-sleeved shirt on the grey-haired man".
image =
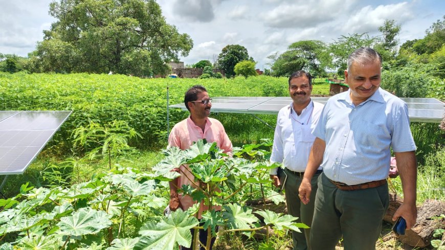
[[390,148],[394,152],[416,150],[408,106],[382,88],[354,106],[350,91],[329,98],[312,132],[326,142],[323,172],[347,185],[385,179]]

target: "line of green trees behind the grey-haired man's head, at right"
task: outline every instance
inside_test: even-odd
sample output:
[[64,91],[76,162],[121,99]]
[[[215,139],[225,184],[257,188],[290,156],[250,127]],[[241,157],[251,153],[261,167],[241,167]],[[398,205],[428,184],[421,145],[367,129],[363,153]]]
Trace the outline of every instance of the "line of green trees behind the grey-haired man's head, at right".
[[397,36],[401,26],[395,20],[386,20],[379,27],[381,35],[368,33],[342,35],[331,43],[318,40],[297,41],[282,54],[270,55],[272,76],[288,76],[297,70],[307,70],[316,76],[327,76],[326,71],[336,69],[344,75],[348,55],[360,47],[378,51],[385,70],[421,68],[431,75],[445,77],[445,16],[426,30],[422,39],[408,40],[398,47]]

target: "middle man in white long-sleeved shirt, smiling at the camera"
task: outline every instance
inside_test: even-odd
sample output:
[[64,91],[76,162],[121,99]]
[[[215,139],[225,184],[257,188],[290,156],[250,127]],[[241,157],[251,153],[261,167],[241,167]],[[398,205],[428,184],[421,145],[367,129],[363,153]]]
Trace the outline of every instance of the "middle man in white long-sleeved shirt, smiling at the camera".
[[[323,104],[310,99],[311,92],[312,77],[309,73],[297,71],[289,77],[289,94],[293,102],[283,107],[278,113],[271,156],[271,162],[282,163],[284,172],[287,174],[284,184],[287,213],[298,217],[298,222],[303,222],[308,226],[312,223],[314,202],[303,204],[298,197],[298,187],[306,169],[310,148],[315,140],[311,129],[317,124],[323,109]],[[321,172],[320,168],[312,178],[315,190],[317,178]],[[280,186],[277,168],[272,169],[270,174],[274,185]],[[314,197],[315,193],[313,192]],[[310,229],[305,229],[304,234],[292,232],[294,250],[310,249],[309,232]]]

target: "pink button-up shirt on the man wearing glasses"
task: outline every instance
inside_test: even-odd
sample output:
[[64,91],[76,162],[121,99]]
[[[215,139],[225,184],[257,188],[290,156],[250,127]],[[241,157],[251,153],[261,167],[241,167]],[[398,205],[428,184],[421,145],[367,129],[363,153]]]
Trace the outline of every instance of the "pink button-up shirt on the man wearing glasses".
[[[227,136],[226,130],[218,120],[213,118],[207,118],[204,132],[200,127],[195,125],[190,117],[176,123],[168,137],[168,145],[172,147],[179,147],[181,150],[186,150],[194,142],[201,139],[206,139],[209,143],[216,142],[216,146],[218,148],[224,150],[225,153],[232,155],[232,142]],[[188,179],[194,179],[189,167],[182,165],[180,169],[180,173],[182,175],[177,177],[177,186],[182,187],[183,185],[191,185],[192,187],[195,187]],[[187,175],[188,178],[184,176],[184,174]],[[189,209],[195,203],[195,201],[193,201],[192,197],[189,195],[178,196],[183,210]],[[219,206],[213,208],[215,210],[221,209]],[[202,213],[205,210],[207,210],[207,206],[204,206],[204,201],[202,201],[201,206],[199,207],[198,218],[202,217]]]

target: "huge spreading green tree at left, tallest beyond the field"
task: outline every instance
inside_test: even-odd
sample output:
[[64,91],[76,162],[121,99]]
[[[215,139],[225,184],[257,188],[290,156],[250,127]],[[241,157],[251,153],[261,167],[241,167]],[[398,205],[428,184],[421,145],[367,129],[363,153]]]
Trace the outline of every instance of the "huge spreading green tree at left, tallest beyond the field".
[[165,74],[193,47],[154,0],[60,0],[50,14],[57,21],[30,54],[31,71]]

